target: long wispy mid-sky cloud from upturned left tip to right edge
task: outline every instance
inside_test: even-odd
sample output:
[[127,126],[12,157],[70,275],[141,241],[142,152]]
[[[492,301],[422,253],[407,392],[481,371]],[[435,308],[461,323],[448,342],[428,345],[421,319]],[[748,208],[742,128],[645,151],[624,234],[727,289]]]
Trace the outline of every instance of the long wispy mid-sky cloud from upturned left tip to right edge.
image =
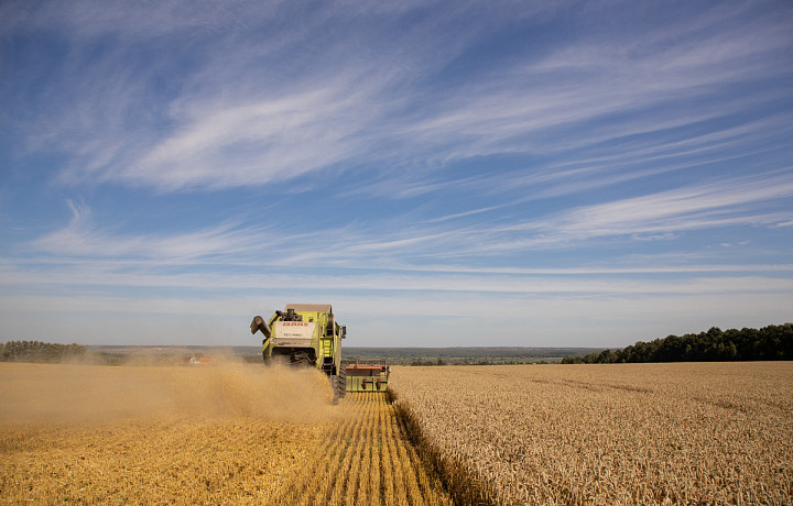
[[[303,231],[291,230],[289,223],[253,227],[228,222],[170,235],[99,230],[86,206],[69,201],[69,223],[30,245],[48,254],[97,258],[173,257],[187,262],[225,255],[245,264],[265,252],[271,266],[352,267],[366,261],[384,268],[410,270],[422,258],[481,261],[507,252],[575,248],[594,239],[632,237],[658,241],[674,239],[676,233],[728,226],[785,227],[793,218],[791,211],[784,206],[769,211],[768,206],[791,196],[793,179],[782,172],[775,177],[731,178],[573,207],[531,220],[510,218],[508,223],[498,213],[490,221],[478,217],[498,211],[493,207],[423,222],[395,217],[388,224],[358,222]],[[477,220],[468,222],[472,217]],[[317,248],[318,243],[324,248]]]

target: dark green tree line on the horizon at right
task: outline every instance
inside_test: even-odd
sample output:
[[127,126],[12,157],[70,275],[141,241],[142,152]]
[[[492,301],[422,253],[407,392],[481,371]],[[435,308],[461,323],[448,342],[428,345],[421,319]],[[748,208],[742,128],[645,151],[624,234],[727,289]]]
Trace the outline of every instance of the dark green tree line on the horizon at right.
[[793,323],[762,329],[713,327],[707,332],[637,341],[621,350],[604,350],[584,356],[565,356],[563,364],[613,364],[628,362],[728,362],[793,360]]

